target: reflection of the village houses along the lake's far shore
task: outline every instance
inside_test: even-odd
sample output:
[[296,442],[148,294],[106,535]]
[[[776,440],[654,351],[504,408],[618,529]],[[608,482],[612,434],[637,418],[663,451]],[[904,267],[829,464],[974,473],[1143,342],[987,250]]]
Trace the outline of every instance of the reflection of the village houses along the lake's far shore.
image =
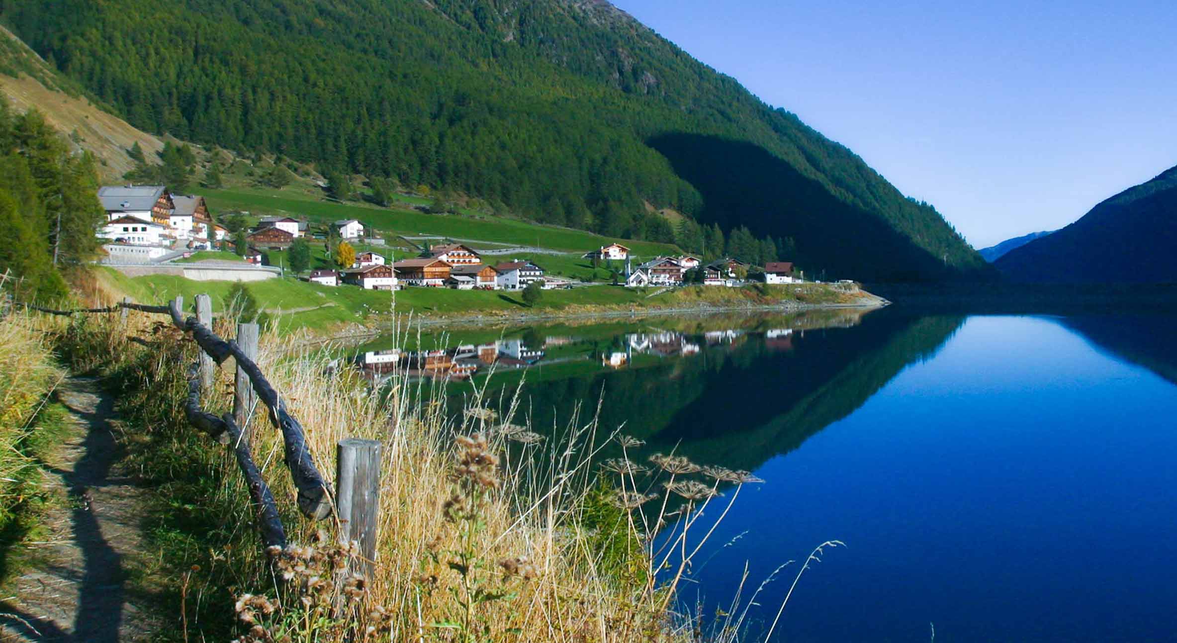
[[[849,327],[858,324],[859,316],[825,322],[818,327]],[[734,346],[750,339],[763,342],[770,351],[791,351],[793,342],[804,337],[806,327],[814,330],[812,324],[803,324],[802,327],[726,329],[694,333],[651,329],[621,333],[606,340],[567,334],[525,334],[526,339],[505,338],[485,344],[459,344],[452,349],[367,351],[357,356],[357,362],[373,380],[385,379],[393,372],[408,377],[461,380],[491,371],[571,362],[594,362],[603,369],[625,369],[639,356],[690,358],[699,354],[704,347]],[[577,346],[586,350],[577,351]]]

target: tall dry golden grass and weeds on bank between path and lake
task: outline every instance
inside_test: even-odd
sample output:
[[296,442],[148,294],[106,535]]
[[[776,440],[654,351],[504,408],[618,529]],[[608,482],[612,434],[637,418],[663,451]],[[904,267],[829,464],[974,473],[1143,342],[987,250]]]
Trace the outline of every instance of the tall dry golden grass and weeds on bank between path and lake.
[[[258,546],[235,463],[184,423],[191,342],[162,318],[140,313],[127,325],[118,314],[47,323],[56,324],[55,342],[75,366],[105,360],[144,477],[177,480],[159,492],[161,511],[171,512],[164,523],[181,526],[157,530],[160,565],[144,572],[175,596],[175,639],[218,639],[231,628],[241,642],[740,636],[756,595],[743,609],[734,597],[732,616],[709,624],[705,636],[699,621],[677,614],[676,590],[742,486],[759,482],[747,472],[673,453],[646,463],[641,444],[599,426],[593,409],[570,426],[532,427],[518,399],[486,400],[471,389],[465,412],[451,415],[431,390],[435,384],[397,372],[373,386],[337,362],[330,344],[266,333],[259,365],[302,423],[332,485],[340,439],[384,445],[374,572],[363,579],[327,574],[332,561],[353,553],[333,536],[338,525],[308,523],[294,511],[281,437],[264,410],[251,420],[253,455],[291,543],[277,558]],[[215,330],[233,334],[226,319]],[[219,370],[206,410],[227,410],[232,373],[231,362]],[[600,463],[610,440],[624,457]],[[727,497],[718,499],[722,488]]]

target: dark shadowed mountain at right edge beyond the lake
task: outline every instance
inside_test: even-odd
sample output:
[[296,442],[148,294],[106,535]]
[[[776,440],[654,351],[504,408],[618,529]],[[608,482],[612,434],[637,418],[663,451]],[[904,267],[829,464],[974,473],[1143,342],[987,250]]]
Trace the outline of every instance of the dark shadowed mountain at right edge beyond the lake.
[[1017,281],[1177,281],[1177,167],[993,265]]

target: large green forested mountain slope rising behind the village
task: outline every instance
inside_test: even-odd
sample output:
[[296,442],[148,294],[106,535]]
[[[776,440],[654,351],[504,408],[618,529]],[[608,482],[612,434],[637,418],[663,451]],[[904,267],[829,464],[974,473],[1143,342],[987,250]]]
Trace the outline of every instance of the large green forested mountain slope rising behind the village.
[[[0,0],[131,124],[646,236],[641,201],[864,279],[984,273],[926,204],[594,0]],[[736,187],[698,160],[770,163]]]

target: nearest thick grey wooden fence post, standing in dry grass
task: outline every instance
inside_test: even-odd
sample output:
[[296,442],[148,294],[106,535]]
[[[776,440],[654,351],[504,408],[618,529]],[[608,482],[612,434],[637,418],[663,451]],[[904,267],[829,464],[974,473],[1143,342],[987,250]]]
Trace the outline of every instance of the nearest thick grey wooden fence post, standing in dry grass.
[[335,477],[335,516],[339,536],[360,545],[358,569],[372,578],[375,566],[375,532],[380,516],[379,440],[345,438],[339,440]]

